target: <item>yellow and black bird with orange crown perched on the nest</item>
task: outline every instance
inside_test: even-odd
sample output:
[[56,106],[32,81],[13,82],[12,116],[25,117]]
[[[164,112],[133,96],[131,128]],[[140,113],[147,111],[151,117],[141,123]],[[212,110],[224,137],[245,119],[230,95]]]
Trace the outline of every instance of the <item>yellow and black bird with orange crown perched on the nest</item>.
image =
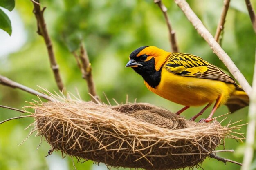
[[204,105],[191,121],[202,115],[213,102],[209,117],[200,122],[212,121],[220,105],[225,104],[231,113],[249,105],[248,95],[233,78],[196,55],[142,46],[130,54],[126,67],[141,75],[151,92],[184,105],[177,115],[191,106]]

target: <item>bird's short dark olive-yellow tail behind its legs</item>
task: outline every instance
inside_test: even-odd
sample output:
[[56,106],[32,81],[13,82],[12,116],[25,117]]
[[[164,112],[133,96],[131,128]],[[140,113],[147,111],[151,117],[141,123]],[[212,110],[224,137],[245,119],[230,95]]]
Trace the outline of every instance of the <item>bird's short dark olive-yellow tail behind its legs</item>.
[[226,105],[229,108],[229,111],[232,113],[236,110],[239,110],[240,108],[248,106],[249,97],[245,91],[243,91],[243,89],[238,86],[236,91],[234,91],[234,93],[228,99]]

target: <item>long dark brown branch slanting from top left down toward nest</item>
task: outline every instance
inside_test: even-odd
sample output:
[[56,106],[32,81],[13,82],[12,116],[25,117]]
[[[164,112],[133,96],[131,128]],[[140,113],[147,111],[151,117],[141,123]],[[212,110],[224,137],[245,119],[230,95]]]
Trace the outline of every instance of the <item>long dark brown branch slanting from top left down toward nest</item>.
[[[36,2],[39,3],[39,0],[36,0]],[[60,91],[65,92],[65,87],[63,85],[61,75],[59,73],[58,64],[56,62],[56,58],[54,55],[54,51],[53,51],[53,47],[52,47],[52,40],[49,37],[49,33],[47,31],[46,24],[45,24],[45,19],[43,17],[43,12],[45,10],[45,7],[41,10],[41,7],[37,3],[33,2],[33,4],[34,4],[33,13],[36,16],[37,25],[38,25],[37,33],[39,35],[42,35],[45,40],[45,45],[47,47],[51,68],[54,73],[54,77],[55,77],[57,86]]]

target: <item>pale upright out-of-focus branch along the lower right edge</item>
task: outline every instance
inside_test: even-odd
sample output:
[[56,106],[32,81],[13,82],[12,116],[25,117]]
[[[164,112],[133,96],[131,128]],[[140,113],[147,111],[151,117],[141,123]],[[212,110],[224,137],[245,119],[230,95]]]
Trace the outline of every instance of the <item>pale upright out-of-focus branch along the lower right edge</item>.
[[[256,49],[255,49],[256,59]],[[254,135],[256,127],[256,63],[254,64],[254,76],[252,82],[252,94],[250,97],[248,125],[246,133],[246,146],[244,151],[243,166],[241,170],[249,170],[254,154]]]

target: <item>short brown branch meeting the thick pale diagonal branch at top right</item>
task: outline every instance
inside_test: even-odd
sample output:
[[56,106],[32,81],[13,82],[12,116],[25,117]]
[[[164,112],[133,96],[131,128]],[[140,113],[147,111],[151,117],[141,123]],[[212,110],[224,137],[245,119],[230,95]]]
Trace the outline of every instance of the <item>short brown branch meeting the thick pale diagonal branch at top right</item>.
[[225,24],[225,19],[226,19],[226,15],[227,15],[227,10],[229,9],[229,2],[230,2],[230,0],[224,0],[224,6],[222,8],[222,13],[221,13],[221,16],[220,16],[220,21],[218,23],[217,30],[216,30],[216,33],[215,33],[215,36],[214,36],[214,38],[215,38],[215,40],[217,42],[219,42],[220,33],[224,29],[224,24]]

